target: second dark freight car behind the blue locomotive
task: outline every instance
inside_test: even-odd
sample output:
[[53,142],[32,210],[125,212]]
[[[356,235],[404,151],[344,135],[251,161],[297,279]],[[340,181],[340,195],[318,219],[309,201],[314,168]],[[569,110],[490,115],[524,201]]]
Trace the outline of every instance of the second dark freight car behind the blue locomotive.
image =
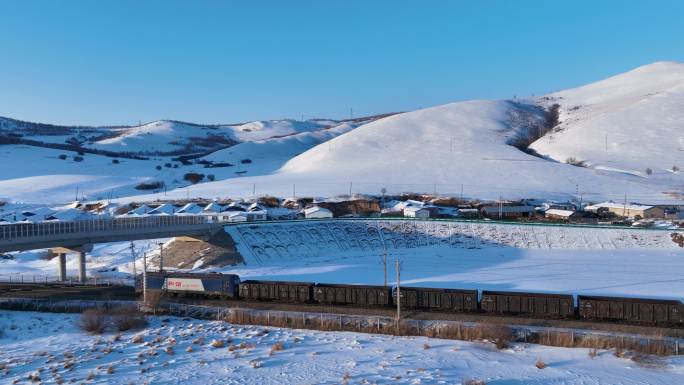
[[382,307],[391,304],[391,290],[385,286],[316,284],[314,300],[326,305]]

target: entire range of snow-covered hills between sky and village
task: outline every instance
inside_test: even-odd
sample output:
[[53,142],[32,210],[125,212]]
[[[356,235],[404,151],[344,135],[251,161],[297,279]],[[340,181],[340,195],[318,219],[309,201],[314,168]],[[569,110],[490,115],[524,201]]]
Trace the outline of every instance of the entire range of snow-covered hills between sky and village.
[[[544,109],[554,104],[560,105],[561,124],[531,145],[543,157],[513,147],[521,137],[544,133]],[[100,186],[86,198],[97,199],[112,189],[114,196],[128,200],[245,197],[254,191],[315,197],[386,191],[485,199],[626,197],[681,204],[684,172],[677,170],[684,168],[682,105],[684,64],[655,63],[538,99],[465,101],[353,123],[276,120],[206,126],[158,121],[139,127],[65,128],[5,120],[0,121],[3,135],[78,141],[84,147],[153,159],[113,167],[109,158],[88,154],[79,164],[65,164],[54,161],[61,150],[49,150],[43,157],[49,162],[40,163],[43,158],[31,158],[36,147],[2,146],[0,150],[9,149],[7,160],[20,162],[12,170],[0,166],[0,198],[20,200],[28,190],[19,187],[33,183],[25,178],[40,177],[30,193],[31,199],[49,201],[44,203],[63,198],[60,191],[72,196],[79,180],[99,178]],[[212,150],[218,151],[195,164],[172,164],[170,157],[159,155]],[[104,160],[95,163],[102,167],[87,164],[100,158]],[[571,159],[585,167],[567,164]],[[211,174],[216,182],[187,188],[187,172]],[[50,175],[66,177],[53,181]],[[133,186],[141,180],[163,181],[171,191],[136,195]]]

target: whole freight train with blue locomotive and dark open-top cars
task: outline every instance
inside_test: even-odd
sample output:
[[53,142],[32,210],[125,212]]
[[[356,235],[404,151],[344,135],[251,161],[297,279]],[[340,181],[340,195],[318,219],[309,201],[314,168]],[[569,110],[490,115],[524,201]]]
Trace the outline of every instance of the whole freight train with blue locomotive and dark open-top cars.
[[[382,308],[396,306],[396,291],[385,286],[313,282],[241,281],[235,274],[148,272],[149,292],[246,301]],[[597,297],[509,291],[401,287],[406,310],[523,315],[535,318],[684,326],[684,303],[675,300]]]

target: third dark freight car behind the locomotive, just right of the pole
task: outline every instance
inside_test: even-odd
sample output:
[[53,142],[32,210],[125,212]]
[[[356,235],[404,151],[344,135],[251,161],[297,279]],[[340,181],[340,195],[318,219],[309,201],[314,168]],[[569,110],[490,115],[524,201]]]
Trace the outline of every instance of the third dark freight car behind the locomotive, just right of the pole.
[[[401,306],[406,309],[476,312],[477,290],[402,287]],[[394,298],[396,301],[396,298]],[[395,302],[396,303],[396,302]]]

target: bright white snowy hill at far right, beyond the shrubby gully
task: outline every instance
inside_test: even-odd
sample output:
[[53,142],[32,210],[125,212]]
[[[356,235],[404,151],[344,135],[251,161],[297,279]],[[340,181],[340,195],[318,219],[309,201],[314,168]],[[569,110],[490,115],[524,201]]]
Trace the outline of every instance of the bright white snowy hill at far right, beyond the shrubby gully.
[[561,106],[562,123],[532,144],[538,153],[684,186],[676,172],[684,169],[683,63],[646,65],[542,100]]

